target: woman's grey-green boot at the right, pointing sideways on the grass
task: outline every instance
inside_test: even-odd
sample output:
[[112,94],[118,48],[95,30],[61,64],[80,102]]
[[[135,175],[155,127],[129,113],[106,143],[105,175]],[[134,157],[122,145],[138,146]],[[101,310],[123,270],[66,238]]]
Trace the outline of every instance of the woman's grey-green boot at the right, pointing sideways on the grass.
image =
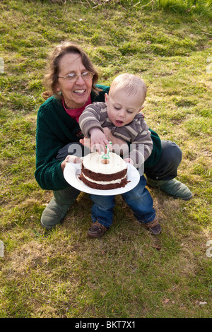
[[172,197],[182,198],[184,201],[192,198],[192,191],[190,191],[187,186],[182,184],[182,182],[177,181],[176,179],[158,181],[147,177],[146,181],[149,186],[160,188],[160,190],[164,191],[166,194]]

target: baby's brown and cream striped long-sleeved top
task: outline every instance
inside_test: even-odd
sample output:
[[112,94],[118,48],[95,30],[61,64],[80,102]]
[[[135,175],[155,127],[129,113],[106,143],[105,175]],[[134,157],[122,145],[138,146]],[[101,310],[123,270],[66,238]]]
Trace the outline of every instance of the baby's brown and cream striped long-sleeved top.
[[93,102],[83,111],[78,123],[83,134],[88,138],[90,138],[90,129],[96,127],[103,131],[103,128],[107,127],[114,137],[129,143],[129,155],[124,155],[124,158],[131,158],[136,168],[143,165],[143,162],[146,161],[153,150],[151,131],[149,131],[141,112],[136,114],[134,119],[126,126],[117,127],[107,117],[105,102]]

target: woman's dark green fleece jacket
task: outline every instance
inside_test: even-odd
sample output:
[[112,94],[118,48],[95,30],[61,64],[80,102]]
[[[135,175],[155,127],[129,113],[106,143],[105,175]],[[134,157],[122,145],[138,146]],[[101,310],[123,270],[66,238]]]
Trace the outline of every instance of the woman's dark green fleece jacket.
[[[91,92],[92,102],[104,102],[109,86],[97,85],[102,91]],[[158,134],[151,131],[153,151],[145,162],[145,167],[155,165],[160,159],[161,143]],[[61,100],[49,97],[37,112],[36,170],[35,179],[42,189],[61,190],[69,184],[64,179],[61,161],[56,159],[59,149],[71,142],[78,142],[83,134],[78,122],[66,113]]]

